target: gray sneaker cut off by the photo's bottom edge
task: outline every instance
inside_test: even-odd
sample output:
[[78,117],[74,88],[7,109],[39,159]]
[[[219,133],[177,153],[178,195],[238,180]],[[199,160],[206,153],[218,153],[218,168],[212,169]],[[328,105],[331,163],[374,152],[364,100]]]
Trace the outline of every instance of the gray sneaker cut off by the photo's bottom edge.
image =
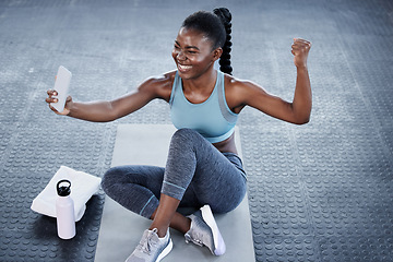
[[164,240],[157,235],[157,228],[145,230],[140,243],[126,262],[159,262],[172,249],[169,229]]

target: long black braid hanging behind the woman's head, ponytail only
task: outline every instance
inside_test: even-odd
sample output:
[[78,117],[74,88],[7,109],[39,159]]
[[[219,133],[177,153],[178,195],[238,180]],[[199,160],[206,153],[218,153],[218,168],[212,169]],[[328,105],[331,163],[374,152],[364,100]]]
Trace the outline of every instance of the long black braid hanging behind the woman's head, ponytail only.
[[224,73],[231,74],[233,68],[230,66],[230,51],[231,51],[231,14],[226,8],[214,9],[213,12],[219,17],[224,24],[226,32],[226,39],[223,46],[223,55],[219,58],[219,70]]

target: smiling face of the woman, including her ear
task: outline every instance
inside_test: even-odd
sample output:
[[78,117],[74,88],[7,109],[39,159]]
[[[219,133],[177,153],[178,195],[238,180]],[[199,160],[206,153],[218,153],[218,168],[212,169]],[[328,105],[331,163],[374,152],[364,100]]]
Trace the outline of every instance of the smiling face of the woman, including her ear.
[[212,50],[212,41],[195,29],[181,27],[175,40],[172,58],[180,78],[195,79],[211,69],[222,48]]

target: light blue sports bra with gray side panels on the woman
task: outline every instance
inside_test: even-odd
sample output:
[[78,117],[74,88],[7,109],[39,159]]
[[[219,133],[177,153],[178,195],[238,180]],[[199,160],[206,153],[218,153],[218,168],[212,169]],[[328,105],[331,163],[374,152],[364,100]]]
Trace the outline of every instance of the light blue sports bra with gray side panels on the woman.
[[193,129],[211,143],[224,141],[235,131],[238,115],[226,103],[224,73],[221,71],[217,71],[211,96],[201,104],[192,104],[186,98],[181,78],[176,72],[169,105],[171,121],[177,129]]

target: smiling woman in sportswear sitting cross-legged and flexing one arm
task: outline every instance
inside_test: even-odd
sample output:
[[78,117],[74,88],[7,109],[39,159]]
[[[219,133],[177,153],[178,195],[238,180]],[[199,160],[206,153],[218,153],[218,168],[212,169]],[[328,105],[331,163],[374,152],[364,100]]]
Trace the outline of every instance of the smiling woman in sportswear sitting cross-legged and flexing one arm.
[[[251,106],[287,122],[309,121],[307,58],[311,44],[295,39],[291,46],[297,81],[294,100],[288,103],[252,82],[231,76],[230,20],[225,8],[187,17],[172,50],[177,70],[146,80],[131,94],[93,103],[68,97],[62,112],[49,105],[59,115],[95,122],[124,117],[155,98],[170,105],[178,131],[171,139],[166,167],[115,167],[103,179],[110,198],[153,221],[127,261],[160,261],[172,247],[169,227],[183,233],[187,242],[223,254],[225,242],[212,212],[233,211],[246,193],[246,174],[234,140],[238,114]],[[222,72],[214,69],[218,59]],[[46,102],[56,103],[56,91],[48,91]],[[179,206],[200,210],[183,216],[177,213]]]

